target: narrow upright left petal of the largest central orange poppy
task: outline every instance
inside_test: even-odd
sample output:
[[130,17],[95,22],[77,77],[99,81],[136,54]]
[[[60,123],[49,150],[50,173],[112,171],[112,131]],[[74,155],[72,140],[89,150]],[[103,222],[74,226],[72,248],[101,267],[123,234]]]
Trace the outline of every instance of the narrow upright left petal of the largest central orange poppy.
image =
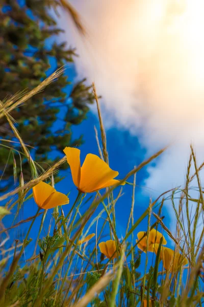
[[79,188],[81,178],[80,149],[74,147],[65,147],[63,151],[67,157],[67,163],[71,169],[73,183]]

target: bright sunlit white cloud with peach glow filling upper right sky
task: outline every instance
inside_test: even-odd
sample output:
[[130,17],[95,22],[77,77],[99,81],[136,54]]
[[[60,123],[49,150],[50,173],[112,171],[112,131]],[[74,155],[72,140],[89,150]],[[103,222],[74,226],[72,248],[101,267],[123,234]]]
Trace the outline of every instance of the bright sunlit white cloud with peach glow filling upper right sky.
[[[74,31],[78,73],[103,95],[106,124],[139,136],[147,154],[171,144],[146,185],[184,183],[191,142],[204,149],[204,2],[75,0],[88,36]],[[70,27],[64,16],[61,24]]]

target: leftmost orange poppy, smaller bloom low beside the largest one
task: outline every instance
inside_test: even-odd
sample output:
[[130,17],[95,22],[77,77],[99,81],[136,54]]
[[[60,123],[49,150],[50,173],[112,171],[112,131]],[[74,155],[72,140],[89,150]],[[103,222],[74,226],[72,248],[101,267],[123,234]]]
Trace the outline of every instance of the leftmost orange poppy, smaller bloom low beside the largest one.
[[42,181],[33,187],[33,196],[38,207],[42,209],[50,209],[69,203],[65,194],[57,192],[52,186]]

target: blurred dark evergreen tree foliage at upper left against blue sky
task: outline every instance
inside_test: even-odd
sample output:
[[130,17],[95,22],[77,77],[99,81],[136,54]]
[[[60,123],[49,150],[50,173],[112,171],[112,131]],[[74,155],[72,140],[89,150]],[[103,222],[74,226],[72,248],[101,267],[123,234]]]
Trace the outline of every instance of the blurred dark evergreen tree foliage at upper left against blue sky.
[[[59,42],[57,35],[62,32],[56,24],[53,10],[60,3],[56,0],[3,0],[0,4],[0,100],[10,97],[24,89],[32,90],[50,73],[66,63],[74,61],[75,49],[67,48],[65,42]],[[68,16],[69,17],[69,16]],[[68,72],[68,70],[67,70]],[[59,159],[65,146],[82,143],[82,137],[72,139],[72,125],[86,118],[88,105],[93,103],[90,86],[83,79],[70,86],[66,75],[48,85],[43,92],[32,97],[24,106],[14,109],[10,115],[17,122],[25,144],[35,147],[29,149],[35,161],[47,169]],[[71,90],[72,89],[72,90]],[[63,109],[64,118],[59,115]],[[60,118],[57,130],[53,124]],[[0,119],[2,139],[16,141],[5,117]],[[1,188],[8,188],[13,182],[13,165],[20,167],[25,180],[31,179],[28,162],[19,157],[16,143],[2,142],[0,147],[0,174],[4,172]],[[9,146],[8,147],[5,147]],[[56,159],[50,159],[49,152],[56,150]],[[21,163],[20,163],[21,159]],[[5,168],[5,165],[7,167]],[[42,170],[40,170],[41,172]]]

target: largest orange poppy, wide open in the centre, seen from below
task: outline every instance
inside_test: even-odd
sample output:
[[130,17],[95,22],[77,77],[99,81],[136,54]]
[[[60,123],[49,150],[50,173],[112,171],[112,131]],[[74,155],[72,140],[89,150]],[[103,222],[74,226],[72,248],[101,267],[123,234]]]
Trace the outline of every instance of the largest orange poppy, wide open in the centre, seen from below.
[[112,170],[98,156],[88,153],[81,167],[80,149],[65,147],[63,151],[71,168],[73,182],[79,191],[91,193],[119,183],[119,180],[113,179],[118,176],[118,171]]

